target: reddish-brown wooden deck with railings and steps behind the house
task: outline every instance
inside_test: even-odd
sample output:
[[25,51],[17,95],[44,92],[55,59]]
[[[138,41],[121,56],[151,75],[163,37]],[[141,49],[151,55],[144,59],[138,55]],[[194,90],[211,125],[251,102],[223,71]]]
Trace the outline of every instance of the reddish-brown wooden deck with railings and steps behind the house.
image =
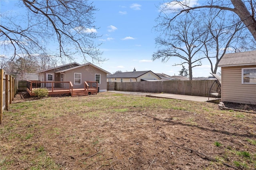
[[48,95],[51,97],[63,97],[63,96],[84,96],[89,94],[97,94],[98,82],[85,81],[83,89],[74,89],[72,82],[64,81],[27,81],[27,91],[30,96],[35,96],[34,90],[36,89],[48,89]]

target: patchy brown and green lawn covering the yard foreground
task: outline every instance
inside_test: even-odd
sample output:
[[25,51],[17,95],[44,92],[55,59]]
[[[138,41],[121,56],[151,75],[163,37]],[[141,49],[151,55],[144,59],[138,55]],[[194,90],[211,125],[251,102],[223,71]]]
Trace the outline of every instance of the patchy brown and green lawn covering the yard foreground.
[[98,93],[21,99],[0,125],[0,167],[61,170],[256,168],[256,115],[206,102]]

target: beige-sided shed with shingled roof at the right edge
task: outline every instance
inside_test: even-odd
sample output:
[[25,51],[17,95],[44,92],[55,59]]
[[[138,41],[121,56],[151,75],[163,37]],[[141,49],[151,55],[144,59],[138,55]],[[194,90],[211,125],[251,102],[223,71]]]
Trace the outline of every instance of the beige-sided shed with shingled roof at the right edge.
[[222,101],[256,105],[256,51],[225,54],[218,67]]

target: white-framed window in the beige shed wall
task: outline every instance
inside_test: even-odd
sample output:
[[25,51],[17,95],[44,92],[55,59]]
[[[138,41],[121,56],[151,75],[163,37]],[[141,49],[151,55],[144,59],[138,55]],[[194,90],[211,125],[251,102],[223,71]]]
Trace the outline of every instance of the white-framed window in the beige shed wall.
[[242,84],[256,84],[256,67],[242,69]]

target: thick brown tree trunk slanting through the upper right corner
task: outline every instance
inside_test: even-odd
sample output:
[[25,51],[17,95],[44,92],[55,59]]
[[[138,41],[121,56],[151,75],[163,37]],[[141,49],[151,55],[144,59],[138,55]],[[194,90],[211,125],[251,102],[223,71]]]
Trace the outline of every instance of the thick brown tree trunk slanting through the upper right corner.
[[244,25],[248,28],[254,39],[256,40],[256,20],[250,14],[242,0],[230,0],[235,7],[235,13],[240,17]]

